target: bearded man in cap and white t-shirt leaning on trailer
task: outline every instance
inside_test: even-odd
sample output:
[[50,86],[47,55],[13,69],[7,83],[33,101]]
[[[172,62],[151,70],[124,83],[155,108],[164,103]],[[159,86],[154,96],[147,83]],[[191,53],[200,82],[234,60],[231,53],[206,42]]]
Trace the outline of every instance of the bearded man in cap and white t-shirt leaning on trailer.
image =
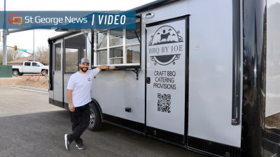
[[90,98],[90,89],[92,87],[92,79],[99,71],[103,69],[114,69],[114,66],[99,66],[93,70],[88,70],[90,62],[88,59],[81,59],[80,70],[71,75],[68,86],[67,96],[69,100],[69,112],[72,123],[73,133],[64,135],[65,147],[69,150],[71,142],[76,142],[78,149],[85,149],[83,140],[80,135],[83,134],[87,126],[90,124],[90,106],[92,101]]

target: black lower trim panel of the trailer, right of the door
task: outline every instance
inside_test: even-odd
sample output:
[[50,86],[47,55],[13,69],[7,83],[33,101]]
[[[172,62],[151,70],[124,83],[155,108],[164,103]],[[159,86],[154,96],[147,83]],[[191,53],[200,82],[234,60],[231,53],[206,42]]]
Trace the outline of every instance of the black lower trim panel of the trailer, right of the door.
[[225,144],[219,144],[217,142],[211,142],[202,140],[196,137],[188,137],[188,147],[205,151],[209,154],[215,154],[216,156],[240,156],[240,149],[237,147],[228,146]]

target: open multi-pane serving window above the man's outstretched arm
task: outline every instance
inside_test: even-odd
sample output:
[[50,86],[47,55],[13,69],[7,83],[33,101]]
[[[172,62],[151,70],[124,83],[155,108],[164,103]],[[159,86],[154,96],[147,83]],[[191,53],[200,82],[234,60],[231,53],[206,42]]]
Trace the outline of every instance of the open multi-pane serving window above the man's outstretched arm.
[[140,65],[140,22],[136,29],[111,29],[95,32],[97,55],[95,66],[139,66]]

